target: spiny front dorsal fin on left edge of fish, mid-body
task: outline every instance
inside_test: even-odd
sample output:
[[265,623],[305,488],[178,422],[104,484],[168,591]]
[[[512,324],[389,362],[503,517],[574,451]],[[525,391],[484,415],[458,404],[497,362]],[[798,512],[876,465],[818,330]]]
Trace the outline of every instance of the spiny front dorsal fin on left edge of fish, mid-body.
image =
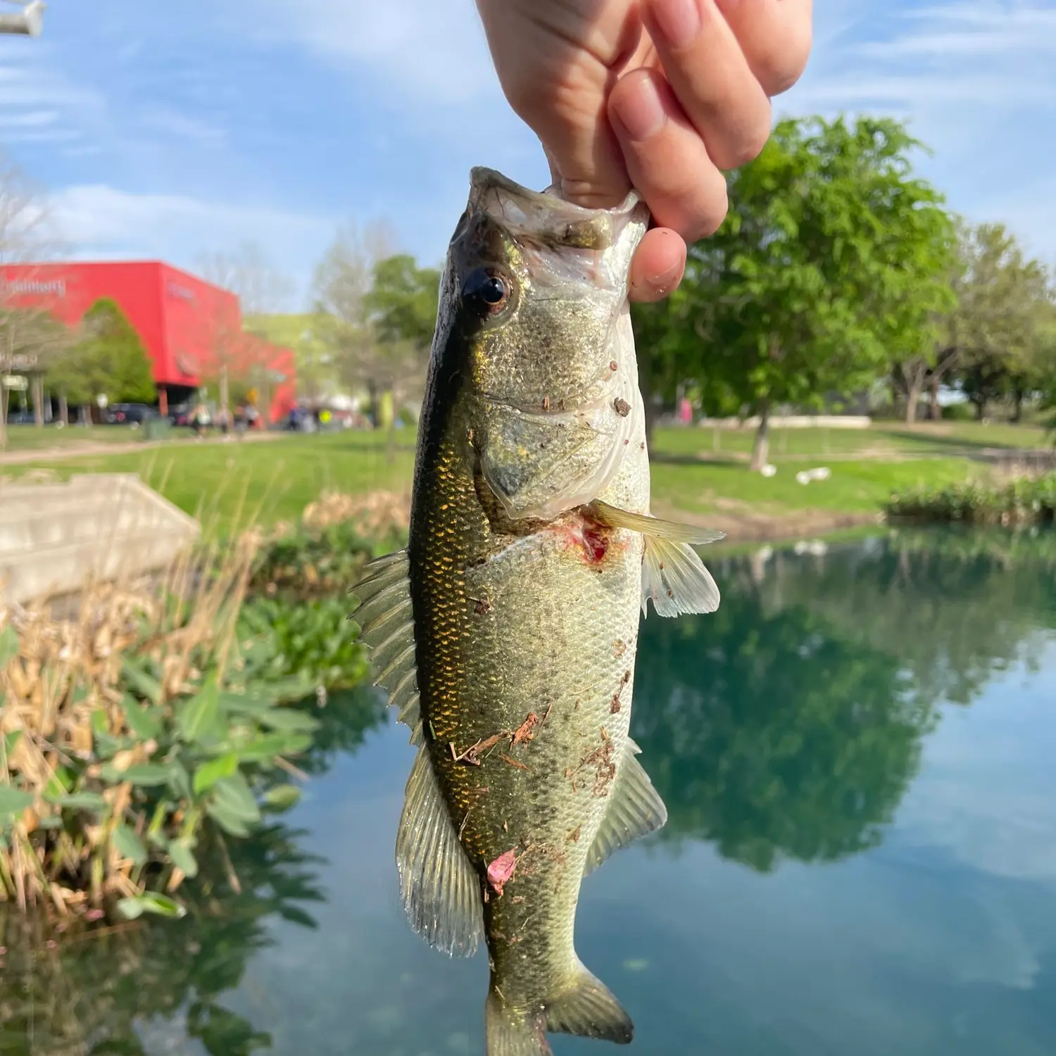
[[411,742],[420,743],[409,568],[407,550],[369,561],[352,588],[360,602],[353,616],[360,625],[359,640],[371,649],[374,684],[389,691],[389,703],[399,709],[399,721],[411,728]]

